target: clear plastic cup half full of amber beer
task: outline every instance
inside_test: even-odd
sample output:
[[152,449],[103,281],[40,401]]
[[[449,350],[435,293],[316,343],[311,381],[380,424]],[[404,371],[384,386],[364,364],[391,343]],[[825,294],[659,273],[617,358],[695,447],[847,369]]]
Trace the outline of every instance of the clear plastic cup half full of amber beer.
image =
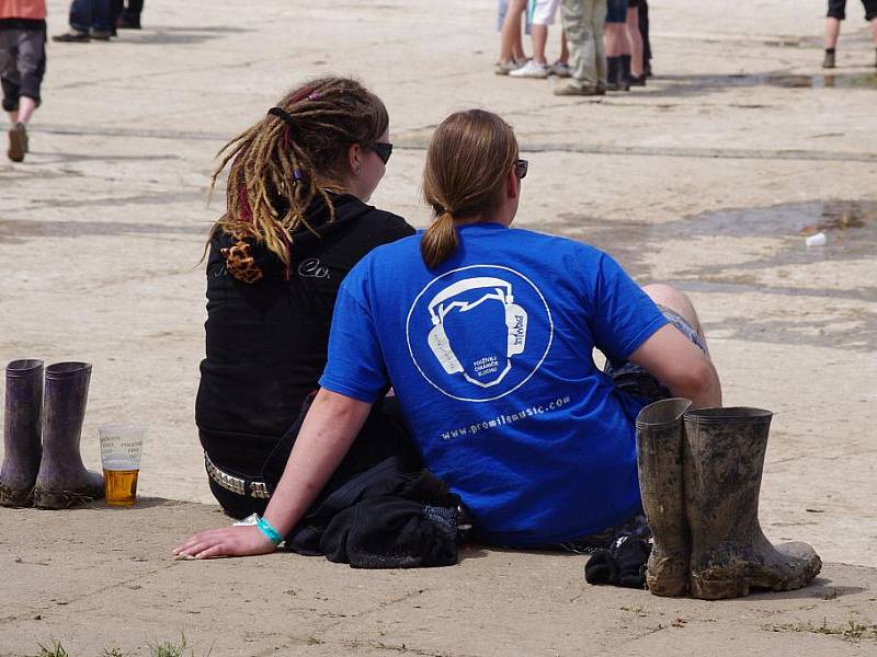
[[146,427],[104,425],[101,437],[103,487],[107,506],[134,506]]

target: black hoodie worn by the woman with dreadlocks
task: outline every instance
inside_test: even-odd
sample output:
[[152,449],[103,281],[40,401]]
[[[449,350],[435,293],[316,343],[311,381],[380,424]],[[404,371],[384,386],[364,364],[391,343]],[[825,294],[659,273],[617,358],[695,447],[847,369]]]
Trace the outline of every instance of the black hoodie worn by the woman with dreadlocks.
[[292,265],[251,246],[263,276],[232,277],[219,234],[207,261],[207,354],[201,362],[195,420],[201,442],[220,468],[258,475],[269,453],[317,388],[327,359],[329,325],[341,281],[380,244],[413,234],[405,219],[351,195],[333,197],[334,221],[318,201],[307,212],[318,234],[303,230]]

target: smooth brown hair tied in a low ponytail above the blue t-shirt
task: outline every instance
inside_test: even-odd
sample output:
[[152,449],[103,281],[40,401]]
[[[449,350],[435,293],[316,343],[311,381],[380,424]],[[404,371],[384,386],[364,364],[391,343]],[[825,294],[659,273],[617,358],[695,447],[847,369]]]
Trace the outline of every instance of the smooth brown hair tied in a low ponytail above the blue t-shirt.
[[457,112],[440,124],[423,168],[423,197],[435,212],[420,242],[428,267],[457,250],[456,220],[483,220],[502,203],[505,175],[516,159],[512,127],[491,112]]

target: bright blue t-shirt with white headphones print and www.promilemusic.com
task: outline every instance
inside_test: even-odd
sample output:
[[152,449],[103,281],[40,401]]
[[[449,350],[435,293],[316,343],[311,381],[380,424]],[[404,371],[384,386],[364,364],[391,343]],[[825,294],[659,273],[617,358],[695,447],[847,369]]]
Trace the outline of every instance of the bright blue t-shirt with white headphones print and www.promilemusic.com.
[[458,229],[436,269],[422,233],[379,246],[335,302],[320,384],[363,402],[392,385],[426,466],[490,543],[553,545],[640,504],[641,401],[594,365],[667,323],[605,253],[498,223]]

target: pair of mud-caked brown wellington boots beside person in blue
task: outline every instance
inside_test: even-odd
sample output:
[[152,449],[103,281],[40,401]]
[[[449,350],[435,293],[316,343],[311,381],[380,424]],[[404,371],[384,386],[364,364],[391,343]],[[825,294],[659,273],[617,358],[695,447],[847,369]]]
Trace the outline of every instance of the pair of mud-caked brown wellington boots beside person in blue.
[[639,487],[654,538],[649,591],[718,600],[807,586],[822,568],[812,548],[774,546],[759,525],[773,414],[691,405],[664,400],[637,416]]

